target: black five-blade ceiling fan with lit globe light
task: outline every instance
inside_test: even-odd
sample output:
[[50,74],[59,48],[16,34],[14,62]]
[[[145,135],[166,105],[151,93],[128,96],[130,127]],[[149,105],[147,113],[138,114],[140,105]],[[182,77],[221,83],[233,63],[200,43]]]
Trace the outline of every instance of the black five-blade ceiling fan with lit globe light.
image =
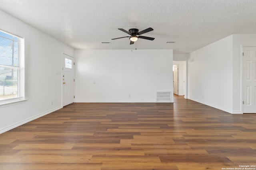
[[[142,39],[148,39],[148,40],[154,40],[155,38],[152,38],[152,37],[145,37],[145,36],[137,36],[137,35],[142,35],[144,33],[147,33],[149,31],[153,31],[154,29],[149,27],[147,29],[144,29],[142,31],[139,32],[138,29],[136,28],[132,28],[132,29],[129,29],[129,31],[126,31],[125,29],[122,29],[122,28],[118,28],[119,30],[121,31],[124,31],[125,33],[128,33],[129,35],[131,36],[126,36],[126,37],[129,37],[130,39],[130,44],[134,44],[134,41],[137,41],[138,38],[142,38]],[[112,40],[114,39],[120,39],[120,38],[126,38],[126,37],[119,37],[119,38],[113,38]]]

